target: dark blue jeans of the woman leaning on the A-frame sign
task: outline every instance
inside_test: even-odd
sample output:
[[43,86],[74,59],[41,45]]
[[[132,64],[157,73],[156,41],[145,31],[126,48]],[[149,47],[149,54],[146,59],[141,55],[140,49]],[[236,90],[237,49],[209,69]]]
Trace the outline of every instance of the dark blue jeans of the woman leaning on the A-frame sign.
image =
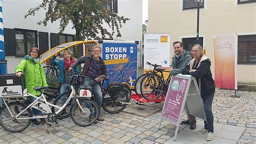
[[206,119],[208,122],[208,124],[207,124],[207,122],[204,121],[205,129],[207,129],[208,132],[212,132],[212,133],[213,133],[212,101],[213,101],[214,93],[215,93],[215,90],[212,94],[210,94],[210,96],[208,98],[203,100],[204,107],[205,107]]

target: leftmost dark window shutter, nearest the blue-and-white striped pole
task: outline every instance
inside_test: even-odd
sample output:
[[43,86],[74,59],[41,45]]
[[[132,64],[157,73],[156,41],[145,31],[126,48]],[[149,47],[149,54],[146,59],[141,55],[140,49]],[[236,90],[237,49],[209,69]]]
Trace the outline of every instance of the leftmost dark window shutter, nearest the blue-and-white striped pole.
[[16,40],[15,40],[14,29],[4,28],[4,47],[5,47],[5,56],[15,56]]

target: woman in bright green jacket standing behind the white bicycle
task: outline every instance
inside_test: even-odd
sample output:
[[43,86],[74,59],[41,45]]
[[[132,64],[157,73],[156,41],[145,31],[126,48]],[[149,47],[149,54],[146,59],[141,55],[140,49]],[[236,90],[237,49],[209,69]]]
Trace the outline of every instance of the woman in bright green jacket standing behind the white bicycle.
[[[27,92],[33,95],[39,95],[40,93],[33,88],[36,86],[48,86],[46,83],[44,68],[39,62],[40,52],[37,47],[33,47],[29,54],[24,57],[21,63],[16,67],[15,73],[17,77],[25,76]],[[35,101],[36,98],[30,97],[30,101]],[[41,115],[42,111],[32,108],[32,114]],[[44,121],[44,119],[41,119]],[[36,119],[32,119],[33,124],[39,125]]]

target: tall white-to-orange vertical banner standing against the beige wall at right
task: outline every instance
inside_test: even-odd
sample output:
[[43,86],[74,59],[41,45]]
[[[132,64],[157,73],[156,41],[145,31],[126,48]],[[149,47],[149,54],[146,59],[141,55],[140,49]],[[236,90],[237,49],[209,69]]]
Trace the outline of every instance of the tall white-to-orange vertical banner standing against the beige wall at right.
[[237,90],[237,34],[213,36],[216,87]]

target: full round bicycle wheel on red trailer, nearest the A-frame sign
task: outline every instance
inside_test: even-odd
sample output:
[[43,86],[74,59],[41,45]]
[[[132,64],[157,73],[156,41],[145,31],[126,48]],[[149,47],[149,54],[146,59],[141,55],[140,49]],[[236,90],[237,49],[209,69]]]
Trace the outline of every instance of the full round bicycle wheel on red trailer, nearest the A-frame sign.
[[140,92],[146,100],[158,99],[163,92],[163,85],[157,74],[150,73],[140,82]]

